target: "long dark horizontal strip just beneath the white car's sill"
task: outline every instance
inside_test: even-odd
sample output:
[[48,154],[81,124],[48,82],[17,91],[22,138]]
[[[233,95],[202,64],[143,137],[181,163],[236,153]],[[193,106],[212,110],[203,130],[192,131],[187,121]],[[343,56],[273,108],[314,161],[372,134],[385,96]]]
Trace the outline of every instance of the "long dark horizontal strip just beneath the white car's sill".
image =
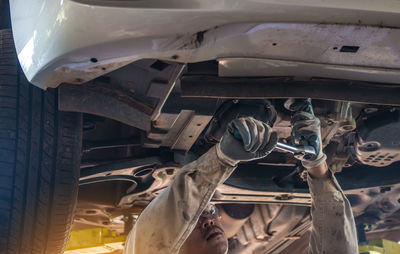
[[182,97],[195,98],[313,98],[400,105],[398,85],[348,80],[184,76],[181,89]]

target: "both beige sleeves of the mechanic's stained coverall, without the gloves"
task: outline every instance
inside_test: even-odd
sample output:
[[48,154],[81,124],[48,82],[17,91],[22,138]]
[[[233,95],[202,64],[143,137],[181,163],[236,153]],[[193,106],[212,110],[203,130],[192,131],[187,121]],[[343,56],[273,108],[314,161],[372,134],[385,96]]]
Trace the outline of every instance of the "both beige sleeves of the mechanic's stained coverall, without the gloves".
[[[218,158],[215,147],[184,166],[172,184],[139,216],[124,253],[178,253],[216,188],[234,169]],[[351,206],[335,177],[331,175],[331,179],[326,180],[309,177],[308,183],[313,200],[309,253],[358,253]],[[337,190],[332,192],[328,185],[336,186]]]

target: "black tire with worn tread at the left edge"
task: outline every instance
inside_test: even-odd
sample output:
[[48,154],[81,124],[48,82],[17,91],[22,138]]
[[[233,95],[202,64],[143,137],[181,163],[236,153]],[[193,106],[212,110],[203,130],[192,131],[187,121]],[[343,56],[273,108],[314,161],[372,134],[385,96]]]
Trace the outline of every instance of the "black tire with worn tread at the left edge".
[[0,31],[0,253],[62,253],[77,200],[82,115],[29,84]]

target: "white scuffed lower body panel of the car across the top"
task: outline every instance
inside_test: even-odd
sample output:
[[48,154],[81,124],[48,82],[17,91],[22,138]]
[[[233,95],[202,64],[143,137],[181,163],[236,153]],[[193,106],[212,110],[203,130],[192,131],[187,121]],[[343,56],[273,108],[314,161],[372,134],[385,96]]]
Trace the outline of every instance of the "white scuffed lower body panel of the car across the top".
[[[394,0],[14,0],[10,7],[21,66],[44,89],[81,84],[145,58],[400,68]],[[359,46],[359,53],[330,52],[343,45]]]

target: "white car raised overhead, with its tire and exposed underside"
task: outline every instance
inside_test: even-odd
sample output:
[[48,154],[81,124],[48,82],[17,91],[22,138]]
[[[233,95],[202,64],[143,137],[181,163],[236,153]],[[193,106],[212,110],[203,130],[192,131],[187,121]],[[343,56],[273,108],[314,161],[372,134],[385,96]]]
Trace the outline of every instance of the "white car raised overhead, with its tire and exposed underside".
[[[233,118],[268,122],[290,144],[290,98],[312,99],[360,228],[400,240],[399,1],[0,8],[1,253],[62,253],[71,228],[129,232]],[[230,253],[306,252],[303,170],[277,150],[219,188]]]

